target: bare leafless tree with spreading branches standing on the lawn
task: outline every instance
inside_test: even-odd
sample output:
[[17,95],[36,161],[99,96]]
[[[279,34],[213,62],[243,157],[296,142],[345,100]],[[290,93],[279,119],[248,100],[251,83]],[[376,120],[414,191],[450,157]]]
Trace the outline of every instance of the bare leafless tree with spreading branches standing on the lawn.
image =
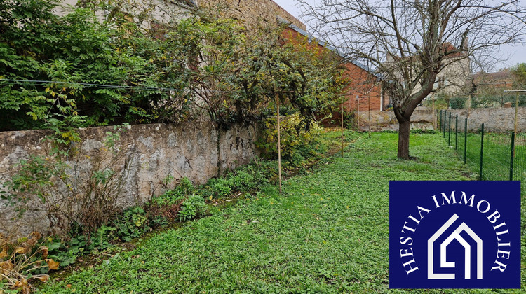
[[518,0],[298,1],[316,34],[384,76],[403,159],[410,158],[411,115],[436,89],[438,73],[480,52],[498,57],[499,45],[520,43],[526,34],[526,9]]

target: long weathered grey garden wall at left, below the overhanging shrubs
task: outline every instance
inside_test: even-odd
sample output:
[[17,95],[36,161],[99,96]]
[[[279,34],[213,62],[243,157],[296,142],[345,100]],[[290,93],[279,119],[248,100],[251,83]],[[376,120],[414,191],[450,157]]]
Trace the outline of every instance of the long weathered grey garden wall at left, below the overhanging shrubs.
[[[114,132],[114,129],[94,127],[79,130],[82,141],[75,148],[79,153],[68,161],[71,167],[68,174],[76,175],[72,178],[86,179],[95,160],[108,154],[102,143],[107,132]],[[10,180],[18,171],[20,160],[28,159],[30,155],[47,157],[51,146],[42,140],[46,134],[43,130],[0,132],[0,183]],[[160,183],[167,176],[175,179],[187,177],[194,183],[205,183],[225,169],[244,165],[257,154],[256,137],[257,129],[252,126],[217,131],[209,122],[125,128],[118,141],[122,158],[116,166],[120,172],[125,172],[125,176],[117,205],[130,207],[147,201],[152,194],[163,193],[165,188]],[[108,160],[102,158],[103,162]],[[128,162],[126,170],[123,170],[124,162]],[[65,186],[57,188],[63,193]],[[15,209],[6,207],[6,201],[0,200],[0,233],[20,237],[32,231],[52,232],[46,209],[32,192],[27,194],[29,202],[22,219],[17,219]]]

